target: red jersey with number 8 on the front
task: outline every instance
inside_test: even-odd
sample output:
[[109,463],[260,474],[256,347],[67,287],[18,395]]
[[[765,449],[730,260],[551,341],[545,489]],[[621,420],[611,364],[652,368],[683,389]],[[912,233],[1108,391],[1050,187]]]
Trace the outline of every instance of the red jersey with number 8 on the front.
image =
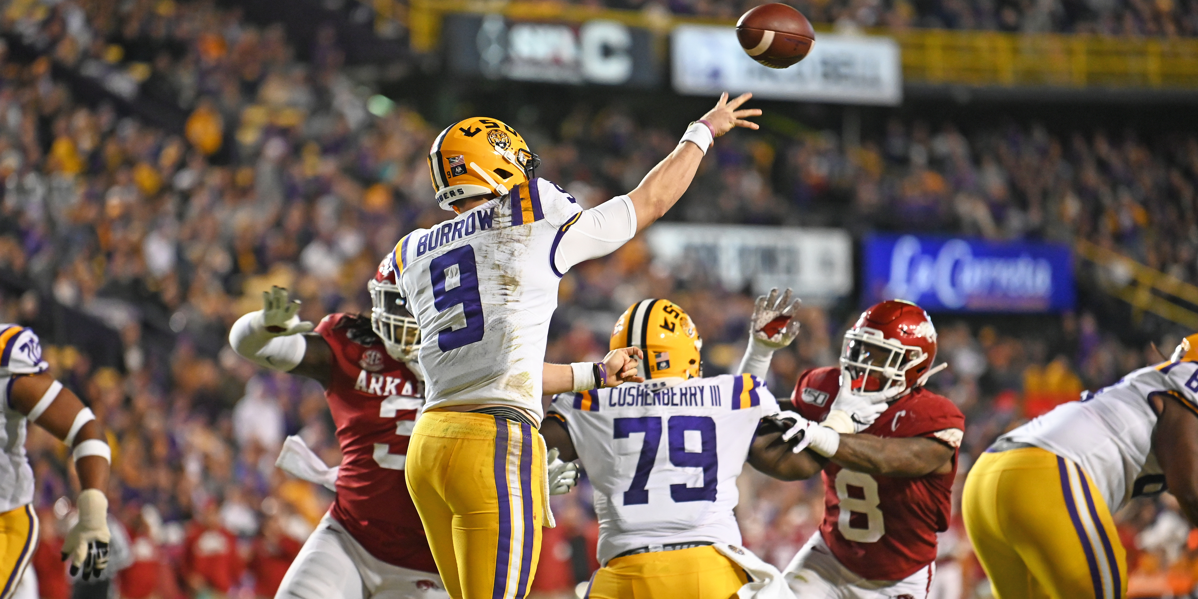
[[[791,401],[804,418],[821,422],[840,391],[840,369],[799,376]],[[903,395],[864,434],[930,437],[961,446],[966,417],[948,398],[922,387]],[[949,528],[952,472],[919,478],[881,477],[828,462],[823,470],[824,520],[819,533],[846,568],[867,580],[902,580],[936,561],[936,533]]]

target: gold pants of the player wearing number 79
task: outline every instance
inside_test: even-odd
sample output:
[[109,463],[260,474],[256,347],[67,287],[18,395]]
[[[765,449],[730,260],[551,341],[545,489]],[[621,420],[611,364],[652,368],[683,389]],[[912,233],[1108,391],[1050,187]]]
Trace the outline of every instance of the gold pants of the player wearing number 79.
[[591,579],[588,599],[728,599],[749,576],[714,547],[654,551],[607,562]]

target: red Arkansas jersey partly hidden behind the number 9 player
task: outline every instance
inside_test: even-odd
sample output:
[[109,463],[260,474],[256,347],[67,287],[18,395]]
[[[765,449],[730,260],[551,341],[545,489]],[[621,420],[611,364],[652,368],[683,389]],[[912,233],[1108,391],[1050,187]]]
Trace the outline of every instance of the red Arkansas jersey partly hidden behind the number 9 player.
[[337,501],[329,512],[370,555],[435,573],[420,516],[404,482],[407,442],[416,411],[424,403],[419,381],[373,334],[351,338],[346,320],[352,317],[329,314],[316,326],[333,350],[325,398],[341,446]]

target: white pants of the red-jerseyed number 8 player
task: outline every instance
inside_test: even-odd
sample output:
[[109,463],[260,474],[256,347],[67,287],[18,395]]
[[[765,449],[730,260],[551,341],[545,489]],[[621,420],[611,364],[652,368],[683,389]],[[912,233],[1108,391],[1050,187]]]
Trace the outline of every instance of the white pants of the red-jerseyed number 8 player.
[[819,531],[791,559],[782,576],[803,599],[927,599],[936,564],[900,581],[865,580],[845,568]]

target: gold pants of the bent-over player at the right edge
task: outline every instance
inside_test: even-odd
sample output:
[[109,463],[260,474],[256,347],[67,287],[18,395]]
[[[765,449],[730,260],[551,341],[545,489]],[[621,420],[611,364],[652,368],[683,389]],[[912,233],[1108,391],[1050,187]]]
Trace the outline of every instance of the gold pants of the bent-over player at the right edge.
[[962,515],[997,599],[1118,599],[1126,552],[1085,472],[1039,447],[985,453]]

